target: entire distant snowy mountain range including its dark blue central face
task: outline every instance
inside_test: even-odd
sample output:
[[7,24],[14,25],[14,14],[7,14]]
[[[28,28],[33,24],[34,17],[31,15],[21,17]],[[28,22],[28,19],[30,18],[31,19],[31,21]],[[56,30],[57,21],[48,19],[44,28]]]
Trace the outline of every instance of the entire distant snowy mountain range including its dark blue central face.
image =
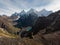
[[51,14],[52,11],[47,11],[45,9],[41,10],[40,12],[36,11],[35,9],[30,9],[29,11],[25,12],[22,10],[20,13],[12,14],[11,18],[17,20],[17,26],[32,26],[34,25],[35,21],[39,16],[48,16]]

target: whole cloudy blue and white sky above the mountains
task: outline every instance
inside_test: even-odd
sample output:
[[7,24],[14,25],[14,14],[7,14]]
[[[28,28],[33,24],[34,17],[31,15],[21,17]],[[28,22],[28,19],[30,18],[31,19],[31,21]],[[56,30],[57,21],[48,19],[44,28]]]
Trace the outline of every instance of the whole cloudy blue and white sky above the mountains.
[[0,0],[0,15],[10,16],[14,12],[28,11],[29,9],[60,10],[60,0]]

